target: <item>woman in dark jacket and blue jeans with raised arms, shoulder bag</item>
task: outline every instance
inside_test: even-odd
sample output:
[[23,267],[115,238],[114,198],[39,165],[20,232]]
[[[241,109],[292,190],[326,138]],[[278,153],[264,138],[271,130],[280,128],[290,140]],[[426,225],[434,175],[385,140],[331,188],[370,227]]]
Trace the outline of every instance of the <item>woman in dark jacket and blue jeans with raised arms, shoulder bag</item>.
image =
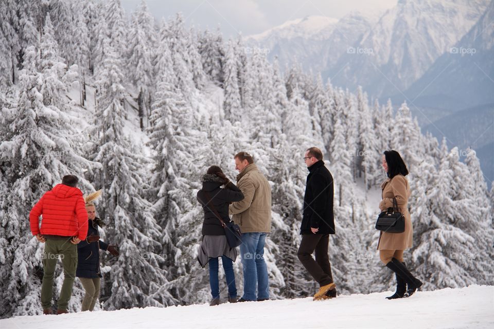
[[[225,188],[221,188],[223,186]],[[211,166],[203,176],[202,189],[197,192],[197,199],[204,209],[202,224],[202,244],[199,247],[198,261],[202,267],[209,263],[209,285],[213,300],[210,306],[219,305],[220,291],[218,281],[218,257],[221,257],[228,285],[228,302],[237,302],[237,287],[233,262],[237,259],[237,249],[231,248],[226,241],[225,230],[218,215],[229,223],[228,205],[243,199],[242,192],[226,178],[218,166]]]

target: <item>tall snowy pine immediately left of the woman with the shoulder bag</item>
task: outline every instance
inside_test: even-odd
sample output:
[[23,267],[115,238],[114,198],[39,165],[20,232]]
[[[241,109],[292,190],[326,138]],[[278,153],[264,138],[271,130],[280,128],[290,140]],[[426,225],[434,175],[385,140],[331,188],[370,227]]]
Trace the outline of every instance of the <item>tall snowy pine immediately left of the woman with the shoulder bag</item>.
[[151,187],[155,193],[153,209],[163,228],[163,252],[167,255],[164,267],[168,281],[173,282],[170,293],[177,303],[185,304],[196,302],[195,294],[207,285],[196,260],[202,224],[196,193],[205,171],[203,155],[207,154],[207,145],[182,90],[174,84],[177,75],[168,60],[172,55],[166,42],[163,50],[158,63],[161,81],[149,128],[155,162]]

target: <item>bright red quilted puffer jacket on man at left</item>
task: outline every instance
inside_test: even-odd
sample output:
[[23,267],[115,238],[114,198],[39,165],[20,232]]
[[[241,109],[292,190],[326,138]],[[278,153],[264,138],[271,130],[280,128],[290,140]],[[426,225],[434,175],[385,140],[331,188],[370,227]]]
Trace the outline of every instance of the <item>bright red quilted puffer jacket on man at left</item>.
[[77,236],[86,239],[87,211],[82,192],[76,187],[58,184],[46,192],[29,213],[32,235]]

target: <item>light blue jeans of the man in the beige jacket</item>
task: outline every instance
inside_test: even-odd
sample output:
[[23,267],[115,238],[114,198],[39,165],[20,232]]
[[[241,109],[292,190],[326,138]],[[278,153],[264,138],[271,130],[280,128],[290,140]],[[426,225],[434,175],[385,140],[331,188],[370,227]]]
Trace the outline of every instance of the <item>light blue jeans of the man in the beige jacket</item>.
[[243,268],[242,298],[245,300],[269,299],[268,267],[264,261],[266,235],[259,232],[242,233],[240,258]]

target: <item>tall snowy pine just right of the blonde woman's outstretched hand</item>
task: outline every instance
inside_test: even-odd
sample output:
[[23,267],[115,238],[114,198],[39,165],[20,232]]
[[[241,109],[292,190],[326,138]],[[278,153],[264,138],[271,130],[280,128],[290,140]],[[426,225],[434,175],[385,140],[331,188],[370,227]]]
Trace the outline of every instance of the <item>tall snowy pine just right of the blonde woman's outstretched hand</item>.
[[105,305],[107,309],[170,305],[174,300],[160,266],[167,257],[159,242],[161,228],[144,197],[149,159],[137,153],[123,132],[122,66],[110,42],[104,45],[90,158],[102,165],[92,177],[103,190],[98,211],[108,224],[110,242],[120,249],[120,256],[107,262],[111,271],[104,276],[104,295],[109,297]]

